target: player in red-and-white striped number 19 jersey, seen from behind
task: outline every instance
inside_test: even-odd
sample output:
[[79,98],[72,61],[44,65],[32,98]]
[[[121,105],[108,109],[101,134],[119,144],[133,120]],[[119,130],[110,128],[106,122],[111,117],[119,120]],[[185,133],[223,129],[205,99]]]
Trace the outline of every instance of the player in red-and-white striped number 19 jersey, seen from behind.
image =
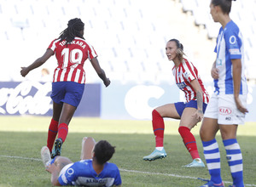
[[[26,77],[29,71],[43,65],[54,54],[58,66],[55,69],[50,95],[53,100],[53,116],[49,124],[47,139],[50,151],[55,144],[52,157],[61,155],[61,145],[67,138],[68,124],[82,99],[85,83],[84,61],[90,59],[105,86],[108,87],[110,84],[96,58],[96,51],[84,40],[82,20],[78,18],[69,20],[67,29],[61,32],[58,39],[49,44],[49,48],[42,57],[36,59],[28,67],[21,67],[21,76]],[[57,133],[58,137],[55,139]]]

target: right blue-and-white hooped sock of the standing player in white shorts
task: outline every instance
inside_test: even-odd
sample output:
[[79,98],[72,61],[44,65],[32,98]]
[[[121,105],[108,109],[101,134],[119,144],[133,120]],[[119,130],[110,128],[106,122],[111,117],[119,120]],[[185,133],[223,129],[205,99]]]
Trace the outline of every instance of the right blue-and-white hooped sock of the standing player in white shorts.
[[226,157],[229,162],[233,184],[237,187],[244,186],[242,177],[242,156],[241,149],[236,139],[223,140],[226,150]]

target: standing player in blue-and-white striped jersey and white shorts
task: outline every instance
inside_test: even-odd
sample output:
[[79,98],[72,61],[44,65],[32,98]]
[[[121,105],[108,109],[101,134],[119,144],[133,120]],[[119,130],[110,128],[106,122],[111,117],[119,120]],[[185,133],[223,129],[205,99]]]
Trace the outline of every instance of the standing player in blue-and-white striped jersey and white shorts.
[[215,91],[212,94],[200,135],[211,175],[203,186],[224,186],[220,176],[220,154],[215,139],[218,129],[223,139],[226,158],[230,165],[233,185],[244,186],[242,177],[241,149],[236,140],[238,124],[244,123],[247,112],[247,82],[244,75],[241,31],[230,20],[231,0],[212,0],[212,19],[221,24],[215,52],[217,58],[212,65]]

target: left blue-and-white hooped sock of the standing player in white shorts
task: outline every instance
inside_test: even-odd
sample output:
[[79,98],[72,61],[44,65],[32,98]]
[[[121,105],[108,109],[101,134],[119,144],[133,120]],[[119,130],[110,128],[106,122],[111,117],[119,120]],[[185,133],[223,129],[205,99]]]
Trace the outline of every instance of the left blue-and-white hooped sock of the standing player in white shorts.
[[214,184],[221,184],[222,178],[220,176],[220,154],[218,150],[218,143],[216,139],[204,142],[202,141],[204,155],[207,161],[207,167],[211,175],[211,181]]

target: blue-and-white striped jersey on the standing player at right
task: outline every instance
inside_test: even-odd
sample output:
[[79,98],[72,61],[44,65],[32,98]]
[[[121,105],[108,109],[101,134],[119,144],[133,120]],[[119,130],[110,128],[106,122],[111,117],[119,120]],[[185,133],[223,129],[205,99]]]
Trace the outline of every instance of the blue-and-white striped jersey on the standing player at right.
[[218,79],[214,80],[217,94],[234,94],[233,73],[231,59],[241,59],[241,88],[240,94],[247,94],[247,80],[244,75],[244,43],[241,31],[233,20],[218,32],[217,45],[214,52],[217,53],[216,68]]

